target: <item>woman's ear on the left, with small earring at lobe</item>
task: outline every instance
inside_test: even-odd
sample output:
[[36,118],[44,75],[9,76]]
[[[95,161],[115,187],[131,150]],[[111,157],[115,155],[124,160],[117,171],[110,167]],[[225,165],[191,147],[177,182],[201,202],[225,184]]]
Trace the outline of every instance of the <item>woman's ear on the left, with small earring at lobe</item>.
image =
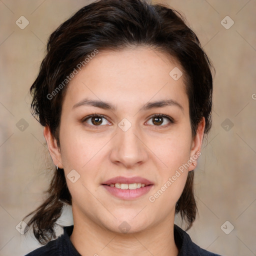
[[49,150],[49,153],[50,153],[53,163],[55,165],[57,165],[58,168],[62,169],[63,165],[62,165],[60,149],[58,148],[57,140],[56,140],[56,138],[53,137],[49,126],[44,126],[43,136],[47,142],[48,150]]

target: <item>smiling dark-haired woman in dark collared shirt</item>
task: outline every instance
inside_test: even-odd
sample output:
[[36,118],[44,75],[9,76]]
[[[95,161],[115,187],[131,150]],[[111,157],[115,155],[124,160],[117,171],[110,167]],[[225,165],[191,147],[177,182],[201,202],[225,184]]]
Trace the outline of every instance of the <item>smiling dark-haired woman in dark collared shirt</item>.
[[[210,62],[182,17],[100,0],[49,37],[32,109],[56,166],[32,215],[31,255],[216,255],[191,227],[193,170],[211,119]],[[64,204],[73,225],[55,237]]]

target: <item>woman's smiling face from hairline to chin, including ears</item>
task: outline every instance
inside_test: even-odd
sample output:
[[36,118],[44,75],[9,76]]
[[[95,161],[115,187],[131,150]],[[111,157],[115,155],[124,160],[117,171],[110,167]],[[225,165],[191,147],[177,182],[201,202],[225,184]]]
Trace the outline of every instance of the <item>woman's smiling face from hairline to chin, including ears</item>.
[[64,168],[74,220],[115,232],[173,222],[204,128],[192,137],[183,76],[169,75],[174,67],[181,70],[145,47],[99,51],[68,84],[60,148],[46,131],[45,138]]

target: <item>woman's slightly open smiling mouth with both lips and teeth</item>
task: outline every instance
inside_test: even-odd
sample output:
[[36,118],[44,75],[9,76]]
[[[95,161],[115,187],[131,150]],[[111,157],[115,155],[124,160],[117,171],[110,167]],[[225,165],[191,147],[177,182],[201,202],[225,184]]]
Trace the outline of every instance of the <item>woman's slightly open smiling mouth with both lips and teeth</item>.
[[142,177],[118,176],[103,182],[101,185],[114,197],[130,200],[146,194],[154,183]]

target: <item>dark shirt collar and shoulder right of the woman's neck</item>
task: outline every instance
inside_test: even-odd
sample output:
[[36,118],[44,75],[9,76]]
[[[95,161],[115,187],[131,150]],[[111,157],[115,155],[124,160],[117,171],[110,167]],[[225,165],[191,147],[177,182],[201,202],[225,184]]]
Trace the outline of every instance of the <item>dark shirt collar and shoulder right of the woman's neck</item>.
[[200,248],[198,245],[192,242],[188,233],[177,225],[174,225],[174,239],[177,247],[179,248],[178,256],[221,256]]

